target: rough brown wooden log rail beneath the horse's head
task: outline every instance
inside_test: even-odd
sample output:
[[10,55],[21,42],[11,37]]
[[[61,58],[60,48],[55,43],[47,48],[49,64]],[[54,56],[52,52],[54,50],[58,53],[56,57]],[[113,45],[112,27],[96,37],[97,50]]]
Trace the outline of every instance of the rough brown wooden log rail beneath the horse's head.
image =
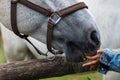
[[30,60],[0,65],[0,80],[33,80],[87,71],[81,63],[68,63],[64,57],[55,60]]

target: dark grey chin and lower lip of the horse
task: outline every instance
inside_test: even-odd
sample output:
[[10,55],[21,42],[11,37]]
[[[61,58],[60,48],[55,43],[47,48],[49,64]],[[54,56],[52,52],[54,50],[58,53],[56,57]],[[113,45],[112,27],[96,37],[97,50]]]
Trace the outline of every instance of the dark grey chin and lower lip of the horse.
[[68,62],[79,63],[85,59],[84,53],[80,50],[66,51],[65,55]]

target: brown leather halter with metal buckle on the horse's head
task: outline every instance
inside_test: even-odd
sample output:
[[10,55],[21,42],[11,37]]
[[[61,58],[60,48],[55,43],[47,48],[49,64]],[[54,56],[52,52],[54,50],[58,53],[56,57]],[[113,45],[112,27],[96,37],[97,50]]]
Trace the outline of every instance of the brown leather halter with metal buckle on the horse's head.
[[62,53],[61,51],[54,50],[51,46],[52,39],[53,39],[53,30],[54,30],[55,25],[57,25],[57,23],[61,20],[62,17],[65,17],[66,15],[69,15],[69,14],[71,14],[75,11],[78,11],[80,9],[88,8],[84,2],[80,2],[78,4],[64,8],[60,11],[51,12],[43,7],[40,7],[36,4],[33,4],[32,2],[30,2],[28,0],[11,0],[11,26],[12,26],[13,32],[17,36],[19,36],[20,38],[27,40],[36,49],[36,51],[42,55],[47,55],[47,54],[43,54],[41,51],[39,51],[32,44],[32,42],[28,39],[28,35],[21,34],[18,30],[18,26],[17,26],[17,3],[20,3],[28,8],[31,8],[31,9],[49,17],[48,28],[47,28],[47,48],[53,54]]

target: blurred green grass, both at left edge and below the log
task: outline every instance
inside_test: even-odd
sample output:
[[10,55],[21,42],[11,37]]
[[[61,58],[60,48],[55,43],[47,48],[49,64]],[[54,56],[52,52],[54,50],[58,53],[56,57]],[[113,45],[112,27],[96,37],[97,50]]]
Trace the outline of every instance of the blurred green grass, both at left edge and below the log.
[[[0,38],[0,64],[6,63],[3,43]],[[102,80],[102,75],[98,72],[86,72],[80,74],[73,74],[73,75],[65,75],[62,77],[53,77],[48,79],[41,79],[41,80]]]

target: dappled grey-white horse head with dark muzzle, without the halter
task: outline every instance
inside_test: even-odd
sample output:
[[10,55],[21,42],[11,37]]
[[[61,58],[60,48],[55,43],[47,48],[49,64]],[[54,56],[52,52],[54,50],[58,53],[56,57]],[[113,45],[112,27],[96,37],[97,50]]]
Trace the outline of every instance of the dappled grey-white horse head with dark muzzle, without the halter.
[[[51,11],[61,10],[76,0],[29,0]],[[10,0],[0,0],[0,21],[10,30]],[[19,32],[46,43],[48,17],[25,7],[17,6]],[[100,47],[98,26],[88,9],[81,9],[64,18],[55,26],[52,46],[65,52],[68,61],[83,61],[84,53],[94,55]]]

